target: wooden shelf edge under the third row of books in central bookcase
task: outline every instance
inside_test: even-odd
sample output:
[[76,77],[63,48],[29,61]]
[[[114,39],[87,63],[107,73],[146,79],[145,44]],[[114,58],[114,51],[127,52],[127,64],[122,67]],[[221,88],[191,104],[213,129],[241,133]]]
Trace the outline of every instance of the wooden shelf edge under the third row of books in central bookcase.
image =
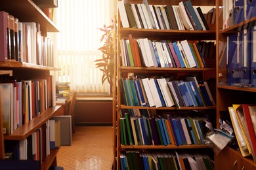
[[216,109],[216,106],[210,107],[139,107],[139,106],[125,106],[121,105],[120,109],[148,109],[148,110],[212,110]]

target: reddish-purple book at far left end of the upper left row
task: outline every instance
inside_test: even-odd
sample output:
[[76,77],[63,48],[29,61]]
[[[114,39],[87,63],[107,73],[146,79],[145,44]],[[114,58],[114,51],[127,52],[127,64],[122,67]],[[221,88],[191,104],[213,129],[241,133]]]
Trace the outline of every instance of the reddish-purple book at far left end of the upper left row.
[[7,52],[7,19],[8,13],[0,11],[0,61],[6,61],[8,58]]

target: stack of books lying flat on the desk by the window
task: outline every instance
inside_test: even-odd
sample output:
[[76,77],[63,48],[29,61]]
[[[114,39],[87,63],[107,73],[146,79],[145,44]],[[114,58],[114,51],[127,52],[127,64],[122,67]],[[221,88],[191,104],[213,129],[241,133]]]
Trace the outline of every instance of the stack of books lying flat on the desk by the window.
[[56,82],[56,103],[66,103],[70,99],[70,82]]

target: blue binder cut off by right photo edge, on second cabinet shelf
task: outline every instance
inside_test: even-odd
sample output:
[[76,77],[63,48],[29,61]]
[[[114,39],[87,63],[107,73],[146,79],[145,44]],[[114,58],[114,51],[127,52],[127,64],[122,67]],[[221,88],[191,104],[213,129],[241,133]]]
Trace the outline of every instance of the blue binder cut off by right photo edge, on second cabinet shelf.
[[251,84],[256,87],[256,26],[251,27]]

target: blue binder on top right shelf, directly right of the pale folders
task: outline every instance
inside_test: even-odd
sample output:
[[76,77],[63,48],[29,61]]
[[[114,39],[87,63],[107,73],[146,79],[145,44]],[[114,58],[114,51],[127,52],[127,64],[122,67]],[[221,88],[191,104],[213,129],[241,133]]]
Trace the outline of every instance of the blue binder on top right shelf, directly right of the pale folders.
[[244,22],[244,0],[234,2],[234,24]]

